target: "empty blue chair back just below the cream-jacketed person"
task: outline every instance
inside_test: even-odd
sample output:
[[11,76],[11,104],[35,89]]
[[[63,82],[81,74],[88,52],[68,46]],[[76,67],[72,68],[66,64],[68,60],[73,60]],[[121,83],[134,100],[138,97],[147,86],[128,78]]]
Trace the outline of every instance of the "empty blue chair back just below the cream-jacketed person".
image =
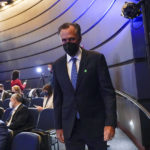
[[37,129],[41,130],[50,130],[55,129],[55,122],[54,122],[54,110],[53,109],[43,109],[40,112]]

